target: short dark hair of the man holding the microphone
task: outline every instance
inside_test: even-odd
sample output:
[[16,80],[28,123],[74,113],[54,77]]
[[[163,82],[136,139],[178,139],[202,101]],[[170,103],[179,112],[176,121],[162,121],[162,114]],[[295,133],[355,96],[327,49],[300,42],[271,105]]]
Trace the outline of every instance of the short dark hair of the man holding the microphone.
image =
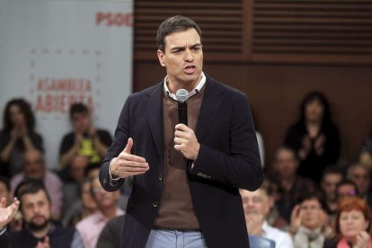
[[189,17],[185,17],[182,15],[174,15],[164,22],[162,22],[157,29],[156,34],[156,43],[157,48],[162,52],[165,51],[165,37],[172,34],[173,32],[178,31],[187,31],[190,29],[195,29],[198,32],[200,41],[201,41],[201,30],[199,25],[192,21]]

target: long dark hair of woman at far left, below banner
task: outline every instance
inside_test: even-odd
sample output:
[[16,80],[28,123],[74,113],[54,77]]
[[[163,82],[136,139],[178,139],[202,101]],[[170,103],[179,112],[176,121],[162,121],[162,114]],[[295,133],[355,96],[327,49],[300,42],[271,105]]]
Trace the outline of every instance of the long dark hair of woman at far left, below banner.
[[26,120],[26,126],[30,130],[35,128],[35,117],[33,116],[31,105],[29,102],[26,102],[22,98],[14,98],[11,101],[6,103],[5,110],[4,110],[4,130],[6,132],[10,132],[13,129],[13,123],[10,118],[10,109],[12,106],[18,106],[20,111],[24,115],[24,119]]

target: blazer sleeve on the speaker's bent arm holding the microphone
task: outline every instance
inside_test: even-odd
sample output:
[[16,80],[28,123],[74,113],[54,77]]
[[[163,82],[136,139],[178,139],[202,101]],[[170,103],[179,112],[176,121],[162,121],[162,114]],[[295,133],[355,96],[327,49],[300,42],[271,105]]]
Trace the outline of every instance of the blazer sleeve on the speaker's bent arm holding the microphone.
[[[199,155],[190,173],[235,188],[256,190],[263,181],[263,172],[250,104],[244,93],[235,93],[229,100],[229,121],[221,129],[221,133],[228,132],[228,138],[220,138],[220,142],[227,143],[222,145],[225,148],[199,141]],[[218,113],[219,117],[222,114]]]

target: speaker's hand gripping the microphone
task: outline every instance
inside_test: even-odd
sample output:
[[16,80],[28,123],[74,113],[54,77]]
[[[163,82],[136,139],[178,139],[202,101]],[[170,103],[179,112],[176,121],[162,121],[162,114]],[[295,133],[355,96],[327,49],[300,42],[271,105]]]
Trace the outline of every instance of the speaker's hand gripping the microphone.
[[199,155],[200,144],[194,130],[184,124],[177,124],[174,132],[174,149],[182,152],[184,157],[196,160]]

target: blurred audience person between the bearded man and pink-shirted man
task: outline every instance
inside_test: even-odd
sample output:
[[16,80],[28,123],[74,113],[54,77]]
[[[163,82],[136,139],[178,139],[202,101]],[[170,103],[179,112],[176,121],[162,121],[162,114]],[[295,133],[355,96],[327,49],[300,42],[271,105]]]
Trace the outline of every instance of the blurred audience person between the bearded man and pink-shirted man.
[[75,202],[71,208],[66,209],[66,213],[62,220],[65,226],[75,226],[84,217],[88,217],[97,210],[91,194],[92,178],[85,177],[79,186],[80,198]]

